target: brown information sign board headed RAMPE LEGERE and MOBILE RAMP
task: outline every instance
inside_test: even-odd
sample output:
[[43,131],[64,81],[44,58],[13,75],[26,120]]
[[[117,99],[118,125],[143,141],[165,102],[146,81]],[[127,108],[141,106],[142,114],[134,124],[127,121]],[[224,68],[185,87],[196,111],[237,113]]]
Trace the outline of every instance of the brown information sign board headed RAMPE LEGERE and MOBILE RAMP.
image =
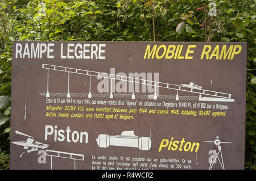
[[243,169],[246,43],[14,41],[11,169]]

